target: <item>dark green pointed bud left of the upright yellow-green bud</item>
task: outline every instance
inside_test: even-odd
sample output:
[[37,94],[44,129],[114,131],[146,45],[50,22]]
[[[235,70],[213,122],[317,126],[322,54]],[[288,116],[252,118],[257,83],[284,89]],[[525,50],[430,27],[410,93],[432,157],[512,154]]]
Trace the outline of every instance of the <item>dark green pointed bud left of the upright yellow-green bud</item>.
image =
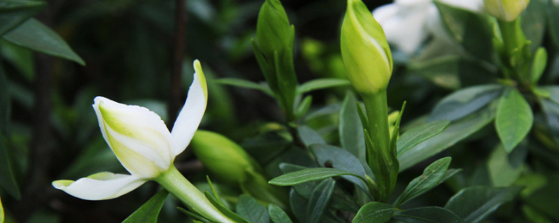
[[293,30],[279,0],[266,0],[263,3],[256,22],[256,40],[269,60],[273,60],[275,51],[293,51]]

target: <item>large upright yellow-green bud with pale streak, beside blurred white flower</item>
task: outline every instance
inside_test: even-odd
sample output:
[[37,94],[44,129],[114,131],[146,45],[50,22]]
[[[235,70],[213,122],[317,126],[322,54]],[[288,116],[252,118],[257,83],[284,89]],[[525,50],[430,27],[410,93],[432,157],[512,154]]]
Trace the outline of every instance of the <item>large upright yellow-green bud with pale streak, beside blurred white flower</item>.
[[386,89],[392,54],[380,24],[361,0],[348,0],[340,40],[347,77],[359,93]]

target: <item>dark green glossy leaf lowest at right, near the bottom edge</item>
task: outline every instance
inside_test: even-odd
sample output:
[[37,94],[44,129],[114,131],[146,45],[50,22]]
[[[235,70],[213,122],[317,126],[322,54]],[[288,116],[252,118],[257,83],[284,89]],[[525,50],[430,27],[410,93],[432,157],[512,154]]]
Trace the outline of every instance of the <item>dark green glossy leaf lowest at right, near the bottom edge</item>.
[[512,201],[521,187],[467,187],[454,194],[444,208],[468,223],[484,220],[503,203]]

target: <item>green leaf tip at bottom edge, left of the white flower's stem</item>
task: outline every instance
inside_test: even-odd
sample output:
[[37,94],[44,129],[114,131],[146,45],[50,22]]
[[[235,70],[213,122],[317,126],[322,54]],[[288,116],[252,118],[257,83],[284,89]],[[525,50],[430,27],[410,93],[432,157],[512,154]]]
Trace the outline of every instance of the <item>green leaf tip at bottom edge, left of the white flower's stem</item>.
[[140,206],[138,210],[134,211],[134,213],[132,213],[129,217],[126,217],[122,223],[157,223],[157,217],[159,216],[159,212],[161,211],[168,194],[169,192],[166,190],[160,190],[150,200]]

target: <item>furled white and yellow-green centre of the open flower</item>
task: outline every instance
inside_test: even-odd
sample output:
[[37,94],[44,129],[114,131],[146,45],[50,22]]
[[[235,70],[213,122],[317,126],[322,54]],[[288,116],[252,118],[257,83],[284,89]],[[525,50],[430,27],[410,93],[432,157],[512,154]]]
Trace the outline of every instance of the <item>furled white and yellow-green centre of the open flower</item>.
[[93,105],[103,138],[131,174],[152,178],[168,169],[174,155],[169,130],[145,107],[96,97]]

